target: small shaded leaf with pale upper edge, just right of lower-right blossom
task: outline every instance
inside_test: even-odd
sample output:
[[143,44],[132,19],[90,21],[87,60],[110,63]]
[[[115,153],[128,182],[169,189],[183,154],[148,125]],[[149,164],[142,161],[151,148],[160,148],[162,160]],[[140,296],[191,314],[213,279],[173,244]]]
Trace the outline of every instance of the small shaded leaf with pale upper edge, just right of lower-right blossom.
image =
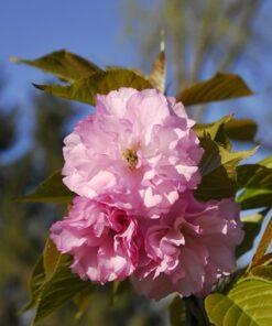
[[237,258],[241,257],[253,247],[253,241],[261,230],[262,221],[265,215],[266,210],[263,210],[259,214],[241,217],[241,221],[243,222],[242,229],[244,231],[244,237],[242,242],[236,249]]

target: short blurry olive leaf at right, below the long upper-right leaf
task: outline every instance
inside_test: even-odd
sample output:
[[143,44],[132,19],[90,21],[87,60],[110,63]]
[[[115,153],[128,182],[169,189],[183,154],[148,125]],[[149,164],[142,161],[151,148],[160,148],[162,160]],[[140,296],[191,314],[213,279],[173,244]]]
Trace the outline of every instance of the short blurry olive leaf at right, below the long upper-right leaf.
[[225,131],[229,138],[241,141],[254,140],[257,130],[257,123],[250,119],[233,119],[225,126]]

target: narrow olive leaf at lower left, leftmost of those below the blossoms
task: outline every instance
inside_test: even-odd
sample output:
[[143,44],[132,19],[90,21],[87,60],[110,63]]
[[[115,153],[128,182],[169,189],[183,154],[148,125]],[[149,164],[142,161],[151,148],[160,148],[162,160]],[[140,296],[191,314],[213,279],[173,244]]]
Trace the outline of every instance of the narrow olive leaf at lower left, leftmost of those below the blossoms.
[[22,308],[22,312],[26,312],[36,305],[44,280],[45,271],[43,265],[43,257],[41,256],[35,263],[30,278],[30,302]]

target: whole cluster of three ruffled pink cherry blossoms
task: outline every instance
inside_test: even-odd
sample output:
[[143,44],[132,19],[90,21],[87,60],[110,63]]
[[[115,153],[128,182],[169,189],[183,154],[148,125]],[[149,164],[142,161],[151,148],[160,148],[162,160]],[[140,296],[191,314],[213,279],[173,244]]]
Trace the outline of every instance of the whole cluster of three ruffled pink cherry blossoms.
[[97,96],[96,115],[65,139],[68,215],[51,228],[72,270],[105,284],[131,278],[161,298],[207,294],[242,239],[233,198],[199,203],[199,141],[181,102],[146,89]]

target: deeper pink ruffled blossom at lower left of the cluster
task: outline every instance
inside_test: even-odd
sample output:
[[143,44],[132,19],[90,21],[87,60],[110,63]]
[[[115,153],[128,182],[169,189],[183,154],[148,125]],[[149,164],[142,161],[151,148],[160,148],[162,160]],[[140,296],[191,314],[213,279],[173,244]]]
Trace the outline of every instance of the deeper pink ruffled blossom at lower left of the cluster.
[[74,258],[83,280],[104,284],[131,275],[138,264],[137,222],[124,211],[75,197],[68,216],[51,227],[51,239]]

